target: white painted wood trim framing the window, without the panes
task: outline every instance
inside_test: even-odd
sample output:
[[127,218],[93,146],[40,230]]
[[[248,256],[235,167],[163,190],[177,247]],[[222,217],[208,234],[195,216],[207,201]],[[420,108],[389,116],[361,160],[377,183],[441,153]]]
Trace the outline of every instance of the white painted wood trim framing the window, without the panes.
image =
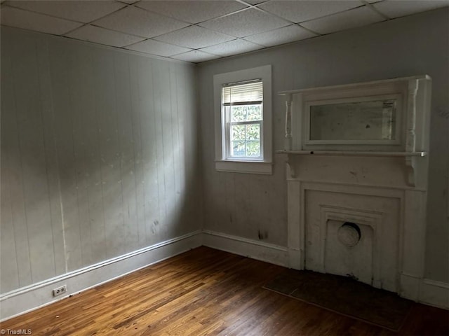
[[[222,113],[222,86],[227,83],[243,82],[260,78],[263,82],[263,160],[227,159],[225,141],[225,116]],[[215,114],[215,169],[219,172],[238,172],[251,174],[272,174],[272,66],[219,73],[213,76],[214,114]]]

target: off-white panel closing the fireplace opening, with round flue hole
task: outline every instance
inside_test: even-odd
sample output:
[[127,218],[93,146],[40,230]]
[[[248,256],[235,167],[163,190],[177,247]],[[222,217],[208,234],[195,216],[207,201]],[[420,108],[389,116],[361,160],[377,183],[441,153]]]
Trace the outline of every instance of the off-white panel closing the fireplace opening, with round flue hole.
[[[306,190],[304,195],[305,268],[396,292],[400,200],[323,190]],[[351,241],[342,233],[344,223],[360,230],[357,244],[342,243]]]

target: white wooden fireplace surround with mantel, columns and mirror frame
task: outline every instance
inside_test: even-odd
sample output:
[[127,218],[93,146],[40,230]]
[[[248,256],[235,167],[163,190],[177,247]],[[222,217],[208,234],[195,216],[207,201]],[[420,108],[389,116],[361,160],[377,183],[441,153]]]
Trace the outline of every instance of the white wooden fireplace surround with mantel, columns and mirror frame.
[[[286,98],[286,148],[277,153],[286,154],[288,162],[290,267],[354,274],[372,286],[419,300],[430,91],[429,76],[413,76],[280,92]],[[395,141],[307,139],[314,102],[359,102],[387,94],[400,103]],[[360,251],[342,247],[335,221],[356,223],[362,236],[366,231]],[[335,261],[339,254],[341,265]],[[354,269],[347,268],[351,265]]]

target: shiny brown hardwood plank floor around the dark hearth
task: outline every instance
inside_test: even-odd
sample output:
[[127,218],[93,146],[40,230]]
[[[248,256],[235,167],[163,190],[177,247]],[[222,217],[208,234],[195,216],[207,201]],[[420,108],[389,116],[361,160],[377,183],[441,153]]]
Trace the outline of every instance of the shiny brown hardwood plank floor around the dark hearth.
[[449,335],[449,312],[415,304],[400,332],[262,285],[283,267],[200,247],[1,323],[32,335]]

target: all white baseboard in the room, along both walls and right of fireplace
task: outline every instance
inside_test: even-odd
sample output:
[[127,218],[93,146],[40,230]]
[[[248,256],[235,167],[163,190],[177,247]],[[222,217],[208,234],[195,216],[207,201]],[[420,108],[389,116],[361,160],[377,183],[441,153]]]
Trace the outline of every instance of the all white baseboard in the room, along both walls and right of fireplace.
[[[221,232],[198,230],[0,295],[0,321],[25,314],[201,245],[275,265],[292,267],[289,265],[289,252],[285,246],[267,244]],[[408,280],[404,281],[407,286],[401,293],[404,297],[434,307],[449,309],[449,283],[430,279],[420,281],[405,274],[402,276],[407,278],[403,280]],[[418,284],[419,282],[421,283]],[[67,285],[67,295],[55,299],[52,296],[53,288],[64,284]],[[419,293],[417,286],[420,286]]]

